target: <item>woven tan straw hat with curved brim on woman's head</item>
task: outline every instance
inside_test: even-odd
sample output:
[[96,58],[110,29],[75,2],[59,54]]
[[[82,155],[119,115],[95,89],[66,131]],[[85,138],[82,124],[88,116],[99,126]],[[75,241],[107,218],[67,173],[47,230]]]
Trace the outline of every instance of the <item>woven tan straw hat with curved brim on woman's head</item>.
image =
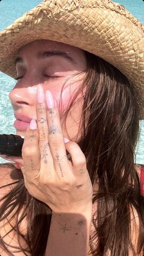
[[21,46],[38,39],[66,43],[117,67],[132,82],[144,119],[144,27],[110,0],[49,0],[0,33],[0,70],[16,77]]

